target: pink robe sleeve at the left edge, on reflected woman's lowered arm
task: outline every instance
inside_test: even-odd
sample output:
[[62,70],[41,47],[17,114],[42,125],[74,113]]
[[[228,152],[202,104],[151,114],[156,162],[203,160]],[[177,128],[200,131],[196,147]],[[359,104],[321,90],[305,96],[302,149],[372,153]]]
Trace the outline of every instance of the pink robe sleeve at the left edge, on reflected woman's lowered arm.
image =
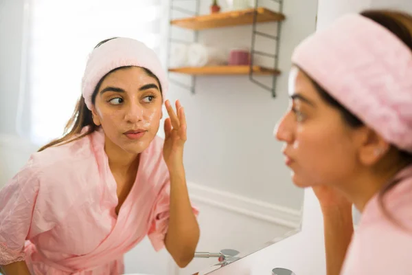
[[32,159],[0,190],[0,265],[24,261],[25,240],[54,227],[40,190],[41,170]]

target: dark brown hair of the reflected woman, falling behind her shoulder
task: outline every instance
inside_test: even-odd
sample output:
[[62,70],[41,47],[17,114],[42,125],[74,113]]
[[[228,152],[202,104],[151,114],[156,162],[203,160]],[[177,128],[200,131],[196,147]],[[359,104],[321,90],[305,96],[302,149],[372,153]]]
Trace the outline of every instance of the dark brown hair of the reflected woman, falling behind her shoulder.
[[[102,45],[102,44],[104,44],[107,41],[110,41],[112,39],[117,39],[117,37],[113,37],[111,39],[106,39],[104,41],[100,41],[98,43],[98,45],[95,46],[95,48],[100,47],[100,45]],[[118,69],[126,69],[128,67],[131,67],[131,66],[118,67],[116,69],[113,69],[113,70],[111,70],[111,72],[108,72],[105,76],[103,76],[102,79],[100,79],[98,85],[96,85],[95,90],[93,91],[93,95],[91,96],[91,100],[92,100],[93,104],[95,104],[95,98],[98,94],[98,91],[100,89],[100,85],[102,85],[102,82],[103,82],[104,78],[106,78],[106,76],[108,76],[108,74],[111,74],[112,72],[115,72]],[[160,91],[161,91],[161,83],[160,83],[159,79],[157,78],[157,76],[155,76],[155,74],[150,72],[149,69],[146,69],[146,68],[142,68],[142,69],[144,69],[144,71],[146,72],[146,74],[148,74],[148,76],[151,76],[152,78],[155,78],[157,80],[157,83],[159,84],[159,88],[160,88]],[[82,129],[84,128],[84,126],[89,126],[89,128],[87,129],[87,131],[80,134],[82,132]],[[62,137],[57,138],[56,140],[52,140],[52,142],[49,142],[45,146],[38,149],[38,152],[43,151],[46,148],[49,148],[51,146],[58,146],[58,145],[66,144],[68,142],[73,142],[75,140],[79,140],[80,138],[93,133],[96,129],[98,129],[98,126],[96,126],[93,123],[92,113],[87,108],[86,103],[84,102],[83,96],[80,96],[80,98],[79,98],[79,100],[76,104],[76,108],[73,111],[73,115],[71,115],[71,118],[69,119],[69,121],[67,122],[67,124],[65,126],[65,131],[63,132]]]

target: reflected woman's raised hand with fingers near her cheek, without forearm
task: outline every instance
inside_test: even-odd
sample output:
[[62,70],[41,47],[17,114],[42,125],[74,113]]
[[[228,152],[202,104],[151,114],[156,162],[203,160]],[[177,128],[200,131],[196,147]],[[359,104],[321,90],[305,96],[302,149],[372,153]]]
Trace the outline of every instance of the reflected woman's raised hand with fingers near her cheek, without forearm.
[[165,120],[165,143],[163,158],[169,170],[183,166],[183,147],[186,142],[185,111],[179,100],[176,100],[176,113],[169,100],[165,101],[169,118]]

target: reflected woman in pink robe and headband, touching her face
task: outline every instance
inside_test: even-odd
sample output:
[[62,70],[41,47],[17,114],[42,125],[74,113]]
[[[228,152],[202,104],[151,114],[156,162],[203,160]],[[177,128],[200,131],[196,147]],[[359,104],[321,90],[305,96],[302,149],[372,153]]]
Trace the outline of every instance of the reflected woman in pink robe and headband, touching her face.
[[179,101],[175,112],[165,100],[165,140],[157,137],[167,89],[159,59],[143,43],[115,38],[95,47],[65,135],[0,191],[6,275],[123,274],[123,255],[145,236],[180,267],[192,261],[199,228]]

